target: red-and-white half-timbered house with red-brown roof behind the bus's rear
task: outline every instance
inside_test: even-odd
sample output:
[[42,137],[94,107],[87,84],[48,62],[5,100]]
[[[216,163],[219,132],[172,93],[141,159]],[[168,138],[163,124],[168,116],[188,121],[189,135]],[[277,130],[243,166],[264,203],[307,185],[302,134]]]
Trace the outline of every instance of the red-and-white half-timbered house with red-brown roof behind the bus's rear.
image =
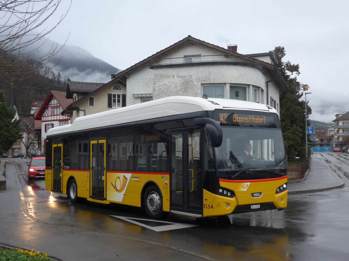
[[[47,130],[53,127],[70,124],[70,116],[68,114],[61,114],[61,112],[73,102],[73,99],[67,99],[65,94],[65,92],[51,91],[34,115],[34,120],[41,121],[42,144],[45,144]],[[41,152],[44,152],[43,149]]]

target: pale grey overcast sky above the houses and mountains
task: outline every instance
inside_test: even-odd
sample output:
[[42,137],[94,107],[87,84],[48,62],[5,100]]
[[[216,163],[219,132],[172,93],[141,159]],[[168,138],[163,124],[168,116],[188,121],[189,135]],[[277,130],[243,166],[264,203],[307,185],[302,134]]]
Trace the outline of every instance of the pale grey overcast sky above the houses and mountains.
[[[61,8],[66,8],[64,0]],[[124,70],[187,37],[242,54],[285,47],[308,84],[310,119],[331,122],[349,111],[349,1],[73,0],[51,39],[80,46]],[[109,81],[107,78],[105,82]]]

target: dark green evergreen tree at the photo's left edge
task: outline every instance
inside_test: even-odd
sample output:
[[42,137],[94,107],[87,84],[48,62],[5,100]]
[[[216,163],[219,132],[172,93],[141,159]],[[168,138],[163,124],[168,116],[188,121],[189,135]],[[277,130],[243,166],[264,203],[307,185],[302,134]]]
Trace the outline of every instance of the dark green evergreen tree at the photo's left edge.
[[22,137],[20,120],[14,120],[15,110],[8,108],[5,95],[0,92],[0,151],[8,151]]

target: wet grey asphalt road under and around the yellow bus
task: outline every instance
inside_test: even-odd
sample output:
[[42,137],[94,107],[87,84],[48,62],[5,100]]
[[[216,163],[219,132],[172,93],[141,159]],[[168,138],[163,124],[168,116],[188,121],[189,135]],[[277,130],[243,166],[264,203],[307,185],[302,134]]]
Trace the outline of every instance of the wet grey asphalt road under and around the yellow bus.
[[[34,248],[61,260],[348,260],[349,188],[347,155],[324,157],[346,186],[289,195],[284,211],[238,214],[210,220],[170,214],[165,221],[193,227],[154,231],[140,209],[83,202],[27,181],[25,161],[6,163],[7,190],[0,195],[0,243]],[[161,225],[161,226],[159,226]]]

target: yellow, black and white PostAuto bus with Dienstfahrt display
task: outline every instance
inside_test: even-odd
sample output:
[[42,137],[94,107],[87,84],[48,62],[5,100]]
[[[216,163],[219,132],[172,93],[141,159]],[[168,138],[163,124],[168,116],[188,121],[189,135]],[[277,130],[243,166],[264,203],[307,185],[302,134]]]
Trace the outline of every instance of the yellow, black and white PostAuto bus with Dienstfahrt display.
[[141,207],[154,219],[283,209],[287,161],[277,111],[174,96],[76,118],[46,138],[46,189]]

